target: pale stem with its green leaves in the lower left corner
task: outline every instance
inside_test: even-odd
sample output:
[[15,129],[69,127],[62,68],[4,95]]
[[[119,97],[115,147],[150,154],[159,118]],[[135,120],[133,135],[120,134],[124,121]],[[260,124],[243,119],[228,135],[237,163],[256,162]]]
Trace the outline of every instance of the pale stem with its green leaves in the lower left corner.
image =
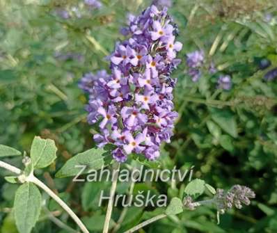
[[[15,175],[5,177],[7,182],[21,184],[15,193],[14,202],[14,216],[17,230],[20,233],[29,233],[38,221],[42,209],[42,196],[39,191],[41,188],[51,198],[53,198],[63,209],[71,216],[77,223],[82,232],[88,233],[86,226],[81,222],[72,209],[61,200],[50,188],[35,177],[35,170],[47,168],[56,160],[56,145],[54,140],[42,139],[36,136],[31,145],[30,156],[22,159],[24,169],[16,168],[4,161],[0,160],[0,167],[13,172]],[[104,166],[105,150],[90,149],[86,152],[77,154],[69,159],[63,168],[56,173],[56,177],[70,177],[77,175],[79,172],[78,165],[86,166],[86,170],[82,170],[81,174],[88,172],[88,170],[98,170]],[[22,153],[14,148],[6,145],[0,145],[0,158],[6,156],[21,156]],[[80,174],[80,175],[81,175]]]

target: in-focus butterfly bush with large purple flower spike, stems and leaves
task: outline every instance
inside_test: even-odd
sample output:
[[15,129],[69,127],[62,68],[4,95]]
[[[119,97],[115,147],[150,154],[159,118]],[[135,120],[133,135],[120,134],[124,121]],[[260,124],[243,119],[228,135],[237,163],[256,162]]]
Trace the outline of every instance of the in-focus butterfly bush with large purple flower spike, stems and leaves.
[[[99,147],[106,144],[115,146],[111,154],[116,161],[114,164],[117,170],[120,163],[127,161],[132,154],[141,154],[148,160],[157,159],[161,143],[170,142],[174,121],[177,118],[172,101],[176,80],[171,78],[171,72],[180,63],[176,58],[177,51],[182,49],[182,44],[175,42],[177,27],[167,15],[166,8],[159,10],[156,6],[147,8],[139,17],[130,17],[129,21],[129,27],[122,32],[131,37],[119,43],[109,57],[112,74],[104,71],[97,75],[88,74],[80,83],[80,87],[90,95],[87,106],[88,122],[100,122],[100,133],[95,134],[94,139]],[[102,149],[91,149],[77,154],[65,163],[56,177],[77,175],[77,165],[87,167],[82,173],[102,168],[104,152]],[[7,163],[0,163],[1,167],[17,174],[17,177],[9,177],[8,180],[18,180],[23,184],[15,198],[15,219],[19,231],[29,233],[38,220],[41,206],[40,192],[36,187],[38,186],[61,204],[83,232],[88,232],[70,207],[33,175],[34,169],[45,168],[56,159],[54,142],[35,138],[30,157],[24,159],[24,171]],[[103,233],[109,231],[117,184],[117,177],[114,178]],[[198,191],[200,184],[194,184],[193,188]],[[29,201],[22,204],[22,200],[35,200],[35,204],[32,203],[29,207]],[[213,199],[210,202],[217,203],[218,200]],[[184,207],[191,209],[204,203],[206,202],[186,199],[183,204],[181,199],[173,198],[164,214],[150,218],[127,232],[135,232],[166,216],[180,214]],[[26,216],[31,216],[31,221],[26,220]]]

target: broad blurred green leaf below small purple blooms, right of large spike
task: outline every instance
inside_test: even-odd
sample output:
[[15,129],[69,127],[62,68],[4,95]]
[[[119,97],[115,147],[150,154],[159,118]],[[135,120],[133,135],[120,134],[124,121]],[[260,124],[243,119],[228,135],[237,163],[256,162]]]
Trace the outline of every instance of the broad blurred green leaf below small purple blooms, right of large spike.
[[231,111],[212,109],[212,120],[219,124],[221,129],[230,134],[230,136],[237,138],[237,122],[235,115]]

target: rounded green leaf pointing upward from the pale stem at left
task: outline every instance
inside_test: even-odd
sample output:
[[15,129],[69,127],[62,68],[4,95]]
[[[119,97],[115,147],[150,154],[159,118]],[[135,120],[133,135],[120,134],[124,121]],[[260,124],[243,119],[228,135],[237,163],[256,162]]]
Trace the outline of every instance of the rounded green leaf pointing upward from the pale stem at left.
[[35,136],[30,153],[34,168],[45,168],[53,163],[56,159],[56,151],[54,140]]

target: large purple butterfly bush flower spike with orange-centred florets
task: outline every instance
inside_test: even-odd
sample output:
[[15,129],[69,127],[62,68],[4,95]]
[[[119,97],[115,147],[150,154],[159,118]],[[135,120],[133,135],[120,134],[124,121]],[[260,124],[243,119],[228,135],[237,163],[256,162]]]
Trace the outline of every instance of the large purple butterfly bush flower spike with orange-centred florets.
[[176,80],[170,75],[180,63],[182,44],[175,42],[177,29],[167,9],[155,5],[139,17],[130,15],[122,31],[129,39],[118,42],[108,57],[111,75],[86,74],[79,86],[90,94],[88,122],[100,122],[94,135],[98,146],[116,145],[112,154],[118,162],[132,153],[154,160],[173,135]]

